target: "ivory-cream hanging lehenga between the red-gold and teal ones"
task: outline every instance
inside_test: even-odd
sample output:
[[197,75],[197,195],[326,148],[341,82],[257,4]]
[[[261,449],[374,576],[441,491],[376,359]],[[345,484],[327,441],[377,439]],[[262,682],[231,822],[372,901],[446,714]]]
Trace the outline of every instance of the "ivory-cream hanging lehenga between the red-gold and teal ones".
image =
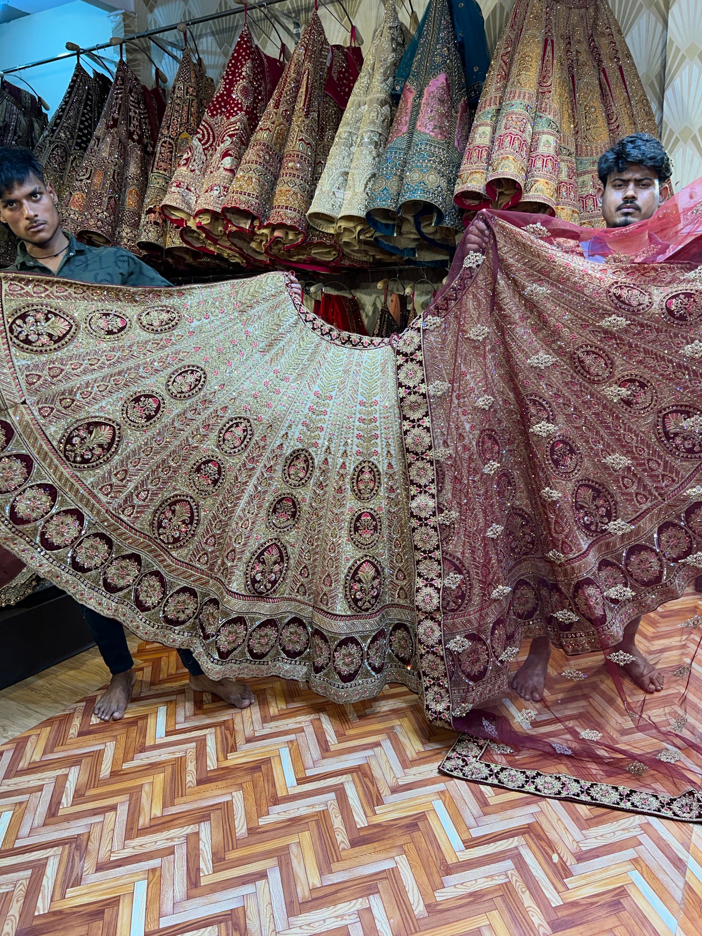
[[307,212],[311,225],[335,235],[344,254],[359,260],[389,256],[373,243],[366,206],[388,141],[389,94],[403,47],[397,10],[388,0]]

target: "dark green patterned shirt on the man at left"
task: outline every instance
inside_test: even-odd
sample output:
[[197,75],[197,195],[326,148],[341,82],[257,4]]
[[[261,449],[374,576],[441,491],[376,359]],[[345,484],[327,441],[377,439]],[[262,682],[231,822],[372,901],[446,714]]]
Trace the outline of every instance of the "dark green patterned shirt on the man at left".
[[17,258],[8,273],[39,273],[42,276],[65,276],[68,280],[82,283],[108,283],[120,286],[169,286],[172,285],[155,270],[139,260],[124,247],[89,247],[64,231],[68,238],[68,249],[61,266],[54,273],[41,260],[30,256],[24,241],[17,248]]

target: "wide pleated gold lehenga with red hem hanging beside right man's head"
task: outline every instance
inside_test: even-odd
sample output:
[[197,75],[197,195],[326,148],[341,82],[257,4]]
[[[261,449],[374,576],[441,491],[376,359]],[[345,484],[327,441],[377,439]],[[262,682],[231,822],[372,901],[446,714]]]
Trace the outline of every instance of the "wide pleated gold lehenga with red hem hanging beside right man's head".
[[456,204],[519,203],[598,227],[597,160],[641,131],[657,135],[607,0],[517,0],[480,96]]

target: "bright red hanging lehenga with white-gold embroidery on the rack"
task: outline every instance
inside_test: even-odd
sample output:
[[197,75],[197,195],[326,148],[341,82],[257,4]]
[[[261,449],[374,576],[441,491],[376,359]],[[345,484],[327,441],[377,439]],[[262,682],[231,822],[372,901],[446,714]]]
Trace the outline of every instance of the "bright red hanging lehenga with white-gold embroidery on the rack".
[[[166,217],[183,227],[183,240],[197,249],[212,251],[214,243],[223,239],[222,206],[282,73],[283,63],[260,51],[244,24],[222,80],[163,199]],[[229,253],[232,250],[226,240],[224,248]]]

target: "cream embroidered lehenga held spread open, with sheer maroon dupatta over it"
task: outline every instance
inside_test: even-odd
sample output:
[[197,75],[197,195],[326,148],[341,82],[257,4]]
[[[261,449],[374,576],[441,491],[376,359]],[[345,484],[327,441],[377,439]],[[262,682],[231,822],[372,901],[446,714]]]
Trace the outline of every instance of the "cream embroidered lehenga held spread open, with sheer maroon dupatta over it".
[[[2,543],[215,679],[416,688],[457,776],[700,821],[700,619],[644,632],[661,694],[610,648],[702,567],[702,188],[614,231],[487,220],[389,339],[284,273],[3,274]],[[545,701],[491,701],[541,634]]]

